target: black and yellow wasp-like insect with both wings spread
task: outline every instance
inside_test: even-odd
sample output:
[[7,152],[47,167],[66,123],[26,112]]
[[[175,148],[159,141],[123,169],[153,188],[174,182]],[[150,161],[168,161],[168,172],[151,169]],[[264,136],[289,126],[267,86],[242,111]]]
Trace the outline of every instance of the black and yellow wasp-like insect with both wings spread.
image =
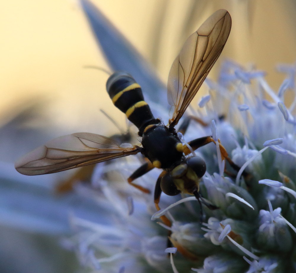
[[[186,157],[191,151],[181,143],[174,127],[221,54],[230,29],[231,17],[226,10],[221,9],[212,14],[186,40],[168,77],[168,101],[174,107],[168,126],[154,118],[149,105],[144,101],[141,87],[131,75],[115,72],[110,76],[107,91],[114,105],[138,127],[142,147],[121,147],[114,140],[102,135],[75,133],[53,139],[30,152],[15,163],[15,168],[25,175],[41,175],[140,152],[149,161],[137,169],[128,178],[128,182],[149,192],[134,184],[133,180],[154,167],[162,168],[163,172],[155,186],[157,209],[162,191],[168,195],[177,195],[180,192],[193,194],[200,201],[199,182],[206,170],[205,162],[196,156]],[[188,144],[195,150],[211,141],[213,139],[206,136]],[[227,154],[224,153],[224,156],[227,157]]]

